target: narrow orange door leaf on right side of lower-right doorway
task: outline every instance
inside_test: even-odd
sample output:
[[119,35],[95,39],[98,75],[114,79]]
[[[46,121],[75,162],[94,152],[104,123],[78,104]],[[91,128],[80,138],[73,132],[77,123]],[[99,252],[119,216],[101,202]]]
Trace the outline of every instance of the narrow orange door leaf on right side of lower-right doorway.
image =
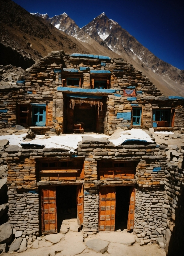
[[135,187],[130,187],[130,205],[128,211],[128,224],[127,230],[131,230],[134,227],[134,211],[135,211]]

